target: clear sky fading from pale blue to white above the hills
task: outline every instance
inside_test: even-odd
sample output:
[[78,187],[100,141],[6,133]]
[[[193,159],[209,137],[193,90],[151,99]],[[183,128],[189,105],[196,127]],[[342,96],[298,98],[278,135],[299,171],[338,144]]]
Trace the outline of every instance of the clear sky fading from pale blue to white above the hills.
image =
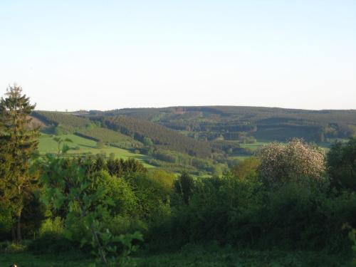
[[0,95],[38,110],[356,109],[356,1],[0,0]]

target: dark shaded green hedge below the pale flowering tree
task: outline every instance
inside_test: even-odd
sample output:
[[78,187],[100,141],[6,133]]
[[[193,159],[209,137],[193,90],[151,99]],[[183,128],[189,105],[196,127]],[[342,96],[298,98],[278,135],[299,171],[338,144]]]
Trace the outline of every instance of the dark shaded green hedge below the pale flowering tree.
[[171,240],[164,242],[168,248],[199,241],[259,248],[347,248],[341,228],[345,222],[356,225],[355,194],[331,194],[327,182],[312,178],[266,187],[256,165],[246,171],[246,175],[231,171],[221,178],[197,179],[189,201],[184,205],[172,201],[172,214],[149,229],[148,240],[159,246],[159,236],[164,236]]

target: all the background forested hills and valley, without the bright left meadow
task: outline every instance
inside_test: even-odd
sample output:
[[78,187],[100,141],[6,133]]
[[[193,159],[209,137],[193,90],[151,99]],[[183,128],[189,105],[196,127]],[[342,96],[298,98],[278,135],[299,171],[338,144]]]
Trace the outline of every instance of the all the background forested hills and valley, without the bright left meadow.
[[356,130],[355,110],[211,106],[36,111],[33,117],[46,123],[45,132],[140,153],[147,163],[174,172],[189,165],[192,174],[221,174],[274,140],[300,137],[328,150]]

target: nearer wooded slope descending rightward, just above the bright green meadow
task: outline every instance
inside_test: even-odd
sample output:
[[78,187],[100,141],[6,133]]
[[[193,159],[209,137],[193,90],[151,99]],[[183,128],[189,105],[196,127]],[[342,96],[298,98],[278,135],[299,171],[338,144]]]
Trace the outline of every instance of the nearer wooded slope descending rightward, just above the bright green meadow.
[[209,142],[195,140],[168,127],[135,117],[88,116],[85,112],[51,111],[35,111],[31,115],[51,125],[57,135],[74,133],[107,143],[130,142],[132,147],[140,147],[142,142],[147,147],[174,150],[194,157],[211,156]]

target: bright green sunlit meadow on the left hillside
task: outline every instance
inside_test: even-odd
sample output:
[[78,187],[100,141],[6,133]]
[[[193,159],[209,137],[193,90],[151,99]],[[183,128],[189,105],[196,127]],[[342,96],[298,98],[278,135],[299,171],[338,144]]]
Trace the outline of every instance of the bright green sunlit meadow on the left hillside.
[[[77,135],[58,135],[58,137],[61,137],[62,139],[69,138],[73,142],[66,142],[69,147],[78,147],[76,150],[69,150],[68,154],[93,154],[96,155],[98,153],[105,153],[107,156],[110,155],[110,153],[114,153],[116,158],[122,158],[122,159],[128,159],[130,157],[134,157],[135,159],[140,160],[145,167],[150,168],[153,167],[150,164],[147,164],[145,161],[148,159],[146,155],[141,155],[141,154],[135,154],[132,153],[128,150],[123,150],[121,148],[117,147],[103,147],[103,148],[97,148],[97,142],[93,140],[89,140],[83,137],[79,137]],[[46,153],[57,153],[58,152],[58,145],[57,143],[53,140],[52,135],[46,135],[46,134],[41,134],[41,137],[39,137],[39,145],[38,145],[38,150],[40,151],[41,154],[46,154]]]

